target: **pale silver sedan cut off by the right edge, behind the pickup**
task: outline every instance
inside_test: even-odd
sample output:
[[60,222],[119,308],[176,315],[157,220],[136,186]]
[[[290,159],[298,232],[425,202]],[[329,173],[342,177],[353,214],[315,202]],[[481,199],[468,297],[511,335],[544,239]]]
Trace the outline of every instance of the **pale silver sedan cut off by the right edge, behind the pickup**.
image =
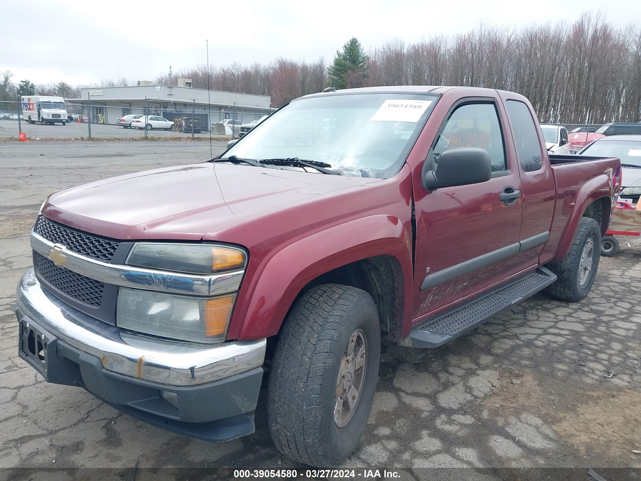
[[621,159],[619,199],[636,204],[641,196],[641,135],[610,135],[595,140],[579,155],[616,156]]

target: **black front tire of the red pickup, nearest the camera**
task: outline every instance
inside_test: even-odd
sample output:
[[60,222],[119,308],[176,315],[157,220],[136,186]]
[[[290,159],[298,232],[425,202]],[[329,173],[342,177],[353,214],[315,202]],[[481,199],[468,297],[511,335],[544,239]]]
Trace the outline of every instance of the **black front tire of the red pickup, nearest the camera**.
[[[338,427],[338,375],[357,330],[367,346],[363,384],[351,418]],[[318,467],[349,457],[367,426],[380,351],[378,312],[367,292],[321,284],[304,293],[285,319],[269,373],[267,417],[276,448],[290,459]]]

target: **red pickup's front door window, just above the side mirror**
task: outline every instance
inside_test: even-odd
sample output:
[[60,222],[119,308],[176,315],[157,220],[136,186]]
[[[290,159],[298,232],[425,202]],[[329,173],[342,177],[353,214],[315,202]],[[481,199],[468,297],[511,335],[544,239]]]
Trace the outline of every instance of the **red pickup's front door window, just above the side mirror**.
[[492,172],[507,169],[503,134],[494,104],[469,103],[452,112],[433,147],[436,162],[446,149],[458,147],[485,149],[492,160]]

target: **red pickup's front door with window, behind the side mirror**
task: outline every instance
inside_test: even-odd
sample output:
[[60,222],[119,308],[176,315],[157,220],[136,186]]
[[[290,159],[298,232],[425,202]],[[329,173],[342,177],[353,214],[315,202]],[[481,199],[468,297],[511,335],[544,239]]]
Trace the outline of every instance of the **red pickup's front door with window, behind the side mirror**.
[[[503,104],[498,97],[463,98],[445,118],[426,162],[432,152],[438,165],[445,149],[483,148],[490,155],[492,178],[415,196],[414,323],[522,269],[519,168],[508,151]],[[422,185],[414,189],[425,192]],[[506,201],[505,193],[511,194]]]

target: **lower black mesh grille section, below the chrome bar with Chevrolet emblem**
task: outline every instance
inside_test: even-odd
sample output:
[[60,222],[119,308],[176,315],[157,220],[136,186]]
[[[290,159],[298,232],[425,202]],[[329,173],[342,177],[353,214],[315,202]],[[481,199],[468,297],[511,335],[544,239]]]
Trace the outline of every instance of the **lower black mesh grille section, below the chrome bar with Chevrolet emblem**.
[[59,291],[81,302],[99,306],[103,301],[104,284],[69,269],[56,266],[53,261],[35,253],[36,269],[40,276]]

